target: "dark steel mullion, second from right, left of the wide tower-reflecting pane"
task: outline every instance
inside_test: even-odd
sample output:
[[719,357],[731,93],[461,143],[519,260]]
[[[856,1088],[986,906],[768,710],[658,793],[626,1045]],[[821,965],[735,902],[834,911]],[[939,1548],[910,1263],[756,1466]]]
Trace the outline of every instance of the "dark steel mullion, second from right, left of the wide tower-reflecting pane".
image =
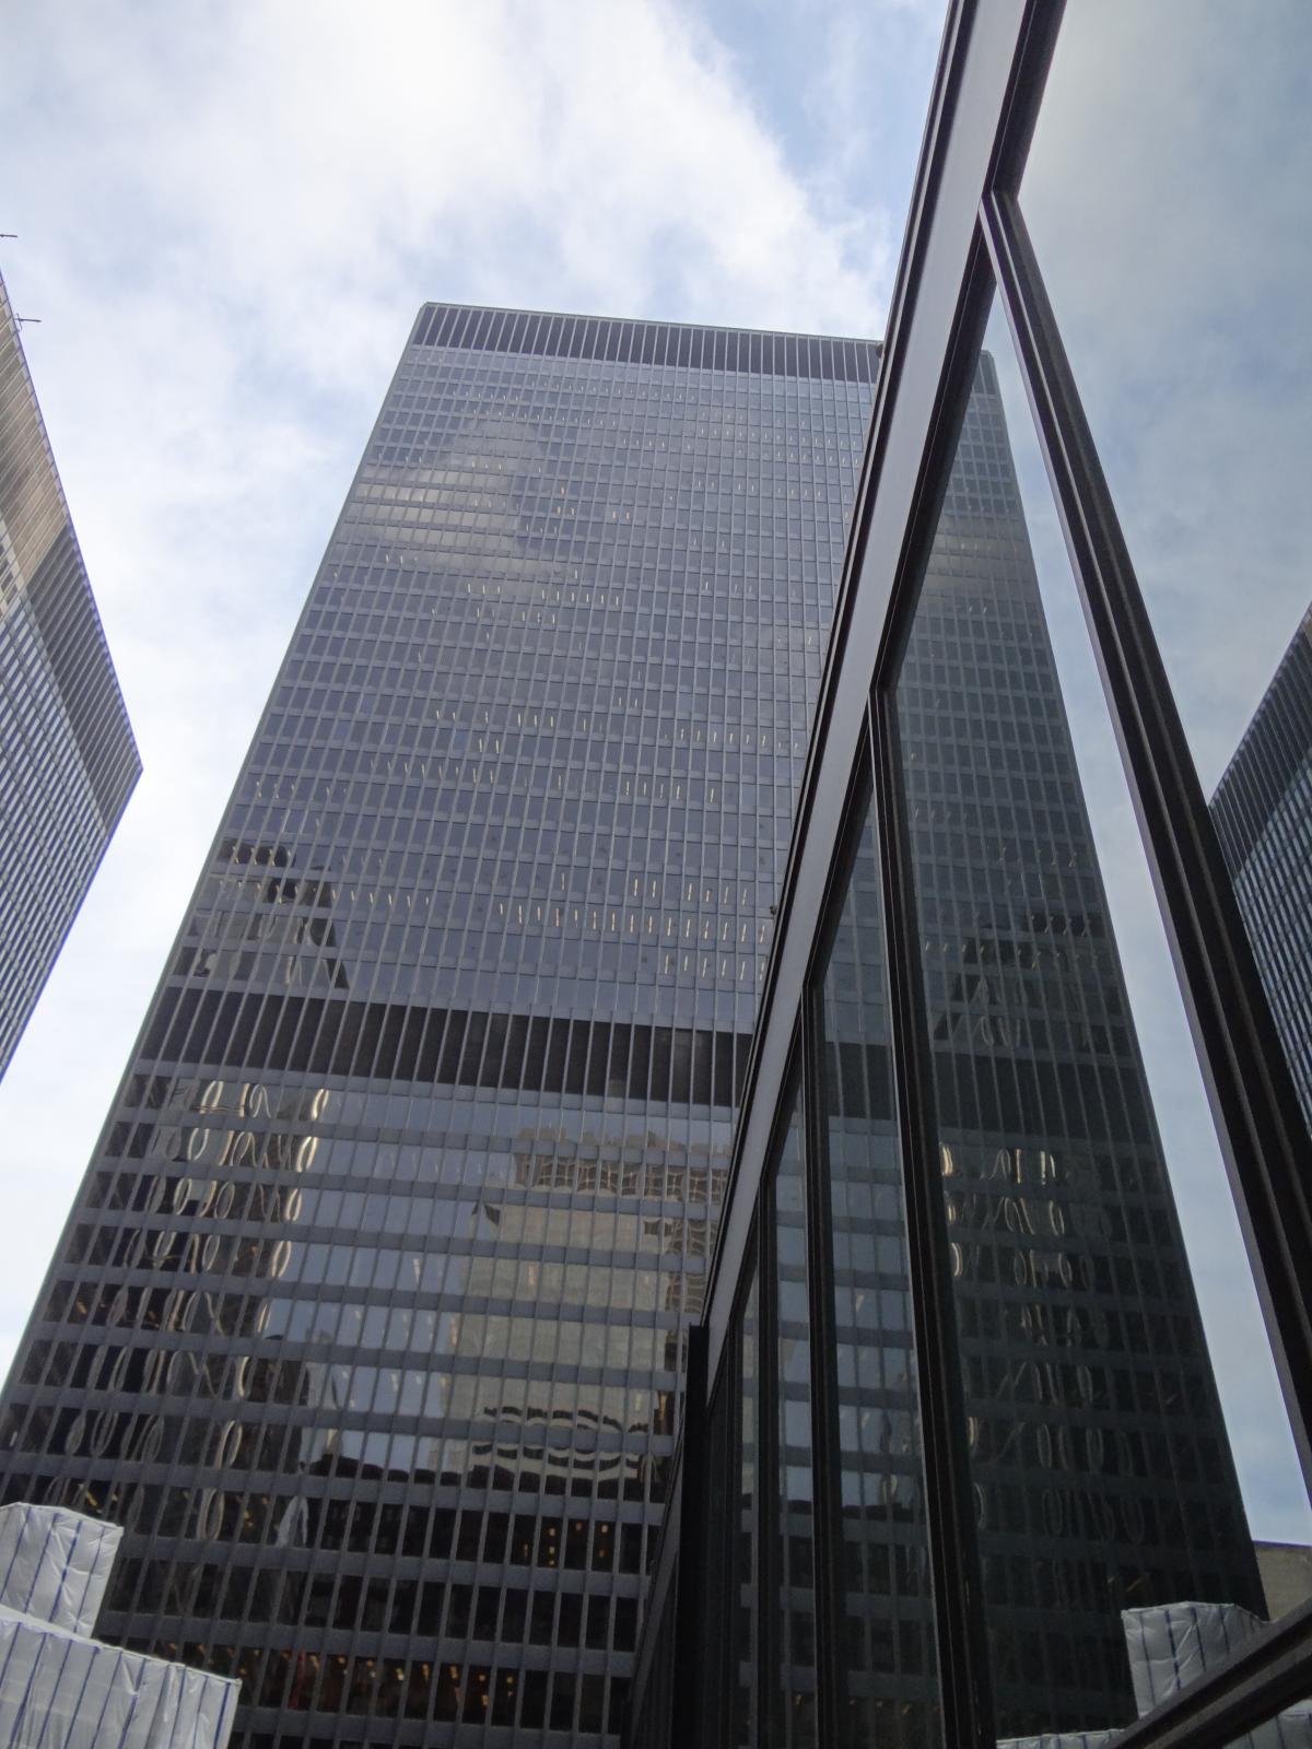
[[920,1404],[925,1525],[934,1583],[943,1742],[994,1749],[985,1593],[974,1523],[952,1252],[943,1202],[934,1063],[920,960],[911,840],[890,682],[873,696],[875,810],[880,834],[883,937],[897,1140]]

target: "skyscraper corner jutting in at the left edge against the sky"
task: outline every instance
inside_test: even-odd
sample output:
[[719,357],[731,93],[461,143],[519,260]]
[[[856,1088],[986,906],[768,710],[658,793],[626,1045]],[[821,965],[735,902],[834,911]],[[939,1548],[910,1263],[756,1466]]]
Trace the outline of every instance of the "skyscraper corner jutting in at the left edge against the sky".
[[0,1074],[140,773],[0,280]]

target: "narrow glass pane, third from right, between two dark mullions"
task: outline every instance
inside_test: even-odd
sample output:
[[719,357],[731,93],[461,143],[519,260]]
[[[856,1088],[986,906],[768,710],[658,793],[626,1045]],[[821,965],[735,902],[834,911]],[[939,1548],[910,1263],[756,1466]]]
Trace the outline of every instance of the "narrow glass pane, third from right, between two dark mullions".
[[866,799],[822,985],[847,1742],[938,1740],[880,862]]

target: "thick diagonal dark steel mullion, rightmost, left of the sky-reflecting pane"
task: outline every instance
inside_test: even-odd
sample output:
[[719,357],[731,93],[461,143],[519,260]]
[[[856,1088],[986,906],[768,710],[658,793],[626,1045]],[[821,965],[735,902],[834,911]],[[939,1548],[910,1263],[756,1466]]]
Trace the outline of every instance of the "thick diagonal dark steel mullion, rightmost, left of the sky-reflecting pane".
[[1307,1125],[1015,196],[985,196],[980,222],[1254,1263],[1303,1478],[1312,1485]]

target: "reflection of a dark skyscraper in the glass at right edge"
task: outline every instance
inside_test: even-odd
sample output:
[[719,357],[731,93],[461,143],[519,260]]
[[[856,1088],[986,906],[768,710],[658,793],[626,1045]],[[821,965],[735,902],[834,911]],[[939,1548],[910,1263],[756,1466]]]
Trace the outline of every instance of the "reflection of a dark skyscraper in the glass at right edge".
[[1267,995],[1312,1125],[1312,609],[1212,796]]

